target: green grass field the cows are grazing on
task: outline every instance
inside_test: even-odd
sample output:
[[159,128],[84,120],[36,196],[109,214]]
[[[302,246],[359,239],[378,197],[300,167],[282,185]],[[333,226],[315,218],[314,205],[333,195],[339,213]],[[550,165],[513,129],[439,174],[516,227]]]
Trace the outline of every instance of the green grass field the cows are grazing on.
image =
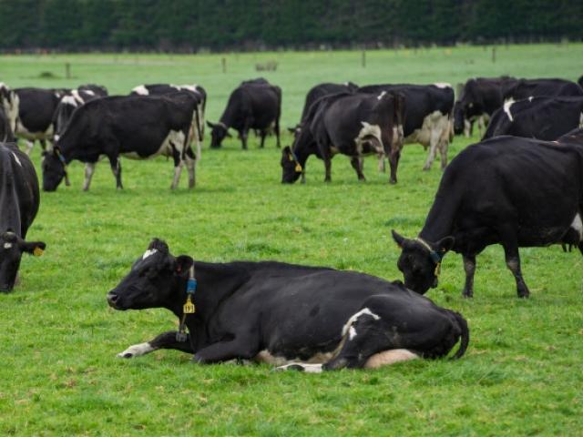
[[[310,86],[322,81],[462,82],[468,76],[583,73],[583,45],[433,48],[369,52],[225,55],[1,56],[10,86],[106,85],[111,94],[151,82],[199,83],[216,121],[230,90],[260,76],[255,64],[279,62],[262,76],[283,90],[282,126],[292,126]],[[66,80],[65,63],[74,76]],[[51,72],[53,79],[41,78]],[[455,138],[450,157],[476,141]],[[282,143],[291,143],[286,133]],[[197,188],[169,190],[171,161],[123,160],[116,191],[106,162],[89,192],[83,167],[72,187],[42,193],[29,239],[46,241],[25,258],[21,283],[0,296],[0,435],[581,435],[583,258],[558,247],[522,249],[532,296],[518,300],[503,251],[477,259],[475,298],[461,297],[461,257],[445,258],[428,296],[459,310],[472,340],[460,361],[411,361],[379,371],[273,372],[268,366],[199,366],[178,351],[136,360],[116,354],[172,329],[166,310],[119,312],[105,296],[152,237],[195,259],[278,259],[356,269],[401,279],[397,229],[421,229],[441,177],[422,172],[425,152],[406,146],[399,184],[366,160],[359,183],[347,158],[332,161],[332,183],[312,158],[305,185],[280,184],[274,139],[240,150],[205,142]],[[40,171],[40,154],[33,160]]]

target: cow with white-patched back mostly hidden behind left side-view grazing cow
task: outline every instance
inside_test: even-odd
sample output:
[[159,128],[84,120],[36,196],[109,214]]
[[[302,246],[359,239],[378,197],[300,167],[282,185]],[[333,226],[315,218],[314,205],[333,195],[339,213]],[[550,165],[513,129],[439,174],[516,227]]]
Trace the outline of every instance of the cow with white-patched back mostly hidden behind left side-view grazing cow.
[[191,138],[197,142],[197,160],[201,156],[201,142],[204,139],[204,114],[207,107],[207,91],[199,85],[172,85],[172,84],[150,84],[140,85],[132,89],[132,95],[138,96],[169,96],[175,94],[177,91],[184,91],[192,93],[197,99],[197,112],[192,117],[194,123],[192,125],[193,132]]

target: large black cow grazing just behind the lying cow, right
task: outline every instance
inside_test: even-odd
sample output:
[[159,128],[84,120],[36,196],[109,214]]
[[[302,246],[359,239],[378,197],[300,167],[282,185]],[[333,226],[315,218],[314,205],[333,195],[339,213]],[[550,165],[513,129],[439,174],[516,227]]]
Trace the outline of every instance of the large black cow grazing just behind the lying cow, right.
[[464,296],[474,293],[476,255],[501,244],[518,297],[529,291],[520,247],[572,244],[583,253],[583,135],[560,143],[495,137],[466,147],[445,170],[419,237],[393,231],[401,249],[405,286],[436,287],[441,260],[453,249],[464,257]]

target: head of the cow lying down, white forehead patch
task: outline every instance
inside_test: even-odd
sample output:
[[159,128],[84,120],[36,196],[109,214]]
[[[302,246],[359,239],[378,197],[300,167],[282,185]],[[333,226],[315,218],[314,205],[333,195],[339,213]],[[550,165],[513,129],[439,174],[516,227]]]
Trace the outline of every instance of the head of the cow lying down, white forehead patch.
[[168,244],[161,239],[152,239],[128,275],[107,293],[107,303],[116,310],[175,307],[177,284],[188,279],[193,262],[187,255],[173,257]]

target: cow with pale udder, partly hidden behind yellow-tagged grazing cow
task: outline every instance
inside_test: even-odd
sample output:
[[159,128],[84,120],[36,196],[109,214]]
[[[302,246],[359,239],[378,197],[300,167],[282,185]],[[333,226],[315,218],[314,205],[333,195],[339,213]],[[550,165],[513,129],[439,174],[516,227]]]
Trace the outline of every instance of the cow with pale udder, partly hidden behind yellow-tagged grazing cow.
[[359,92],[379,94],[383,91],[404,96],[404,124],[399,127],[398,159],[404,144],[419,143],[429,147],[424,170],[431,168],[435,153],[441,155],[441,168],[447,165],[447,147],[452,139],[451,117],[454,110],[454,88],[449,84],[435,85],[369,85],[361,86]]

